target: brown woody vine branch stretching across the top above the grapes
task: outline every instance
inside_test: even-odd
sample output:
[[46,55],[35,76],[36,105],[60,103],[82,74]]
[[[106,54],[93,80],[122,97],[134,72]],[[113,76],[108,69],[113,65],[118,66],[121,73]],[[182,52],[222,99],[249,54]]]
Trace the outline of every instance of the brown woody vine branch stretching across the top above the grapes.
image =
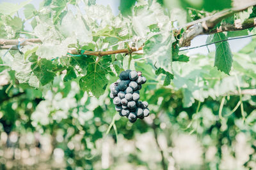
[[[196,36],[202,34],[214,34],[217,32],[225,32],[225,31],[241,31],[243,29],[248,29],[256,26],[256,17],[249,18],[245,20],[243,23],[241,20],[235,20],[234,24],[227,24],[223,23],[220,27],[214,28],[216,24],[221,22],[224,18],[230,17],[234,13],[239,11],[243,11],[248,9],[250,6],[256,5],[256,1],[252,3],[248,3],[241,7],[231,8],[229,10],[220,11],[219,13],[215,13],[212,16],[205,17],[199,20],[195,20],[193,22],[189,22],[188,24],[180,26],[178,29],[172,29],[174,31],[175,36],[180,34],[182,28],[186,27],[187,30],[182,33],[182,38],[179,39],[180,47],[189,46],[191,40]],[[19,50],[17,45],[25,46],[25,45],[35,45],[38,43],[42,43],[39,38],[31,38],[31,39],[0,39],[0,50]],[[140,48],[131,48],[131,49],[120,49],[120,50],[109,50],[105,52],[92,52],[92,51],[85,51],[84,55],[96,55],[96,56],[103,56],[103,55],[111,55],[116,53],[131,53],[131,52],[138,52],[139,50],[143,50],[143,46]],[[78,54],[77,50],[68,50],[71,54]]]

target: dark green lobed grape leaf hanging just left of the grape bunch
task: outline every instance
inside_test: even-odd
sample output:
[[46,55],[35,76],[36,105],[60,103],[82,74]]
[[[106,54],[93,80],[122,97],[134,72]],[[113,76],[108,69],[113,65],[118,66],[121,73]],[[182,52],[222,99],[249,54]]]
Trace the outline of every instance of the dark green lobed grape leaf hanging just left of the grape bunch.
[[88,64],[86,75],[79,80],[80,88],[91,92],[95,97],[102,95],[108,85],[108,79],[106,78],[108,67],[109,62],[106,62],[106,60]]

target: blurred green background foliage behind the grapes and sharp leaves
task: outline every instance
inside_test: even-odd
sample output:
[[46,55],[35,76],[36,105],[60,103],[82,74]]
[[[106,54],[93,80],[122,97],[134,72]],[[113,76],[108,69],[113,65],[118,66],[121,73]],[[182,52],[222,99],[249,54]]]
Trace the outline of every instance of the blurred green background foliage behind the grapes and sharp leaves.
[[[182,17],[178,24],[232,6],[226,0],[157,2],[168,9],[166,13],[175,8],[181,11],[175,15],[175,20]],[[51,5],[58,13],[67,3],[76,1],[47,0],[43,6]],[[122,15],[131,15],[136,3],[121,0]],[[31,19],[29,13],[25,16]],[[6,18],[4,23],[12,31],[24,27],[18,17]],[[0,32],[1,37],[8,35]],[[189,62],[173,62],[174,79],[168,86],[163,86],[166,76],[155,74],[154,62],[133,55],[132,66],[148,80],[140,96],[150,108],[150,117],[135,124],[120,118],[109,98],[109,85],[117,80],[113,73],[106,75],[104,94],[92,97],[79,87],[81,77],[65,79],[65,73],[58,73],[51,83],[35,89],[17,82],[14,71],[7,73],[7,67],[1,66],[1,81],[8,83],[0,87],[0,169],[255,169],[256,96],[241,94],[256,89],[255,48],[253,38],[233,53],[230,75],[213,67],[214,52],[191,55]],[[116,65],[123,64],[125,56],[115,57],[122,60]]]

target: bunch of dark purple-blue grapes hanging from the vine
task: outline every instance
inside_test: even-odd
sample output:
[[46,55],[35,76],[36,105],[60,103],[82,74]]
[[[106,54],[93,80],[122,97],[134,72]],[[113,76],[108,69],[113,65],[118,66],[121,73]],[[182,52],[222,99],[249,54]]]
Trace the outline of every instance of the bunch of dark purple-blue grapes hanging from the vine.
[[115,83],[110,85],[110,97],[116,105],[116,111],[121,117],[127,117],[131,123],[136,122],[137,118],[148,117],[147,101],[139,101],[141,85],[147,80],[141,76],[140,71],[127,69],[120,73]]

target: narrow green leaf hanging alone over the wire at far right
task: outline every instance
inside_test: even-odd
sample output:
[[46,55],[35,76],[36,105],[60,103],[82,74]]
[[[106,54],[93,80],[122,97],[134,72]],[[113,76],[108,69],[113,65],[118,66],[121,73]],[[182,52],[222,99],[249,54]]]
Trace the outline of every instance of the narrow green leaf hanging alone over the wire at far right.
[[[221,41],[227,39],[227,36],[222,32],[214,34],[212,41]],[[216,43],[216,53],[214,66],[216,66],[220,71],[229,75],[229,71],[232,67],[232,53],[227,41]]]

